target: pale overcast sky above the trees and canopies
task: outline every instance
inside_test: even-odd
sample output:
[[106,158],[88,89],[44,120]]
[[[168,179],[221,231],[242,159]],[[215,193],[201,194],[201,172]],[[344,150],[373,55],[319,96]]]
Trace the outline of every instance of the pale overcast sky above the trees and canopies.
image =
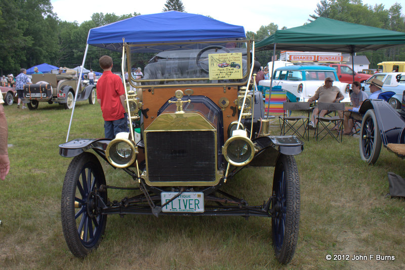
[[[245,31],[257,32],[260,26],[274,23],[278,29],[301,26],[315,14],[320,0],[182,0],[188,13],[209,15],[214,19],[245,27]],[[389,9],[398,0],[363,0],[363,4],[383,4]],[[53,11],[62,21],[77,21],[79,24],[91,20],[93,13],[115,15],[159,13],[166,0],[51,0]],[[402,13],[405,7],[402,7]]]

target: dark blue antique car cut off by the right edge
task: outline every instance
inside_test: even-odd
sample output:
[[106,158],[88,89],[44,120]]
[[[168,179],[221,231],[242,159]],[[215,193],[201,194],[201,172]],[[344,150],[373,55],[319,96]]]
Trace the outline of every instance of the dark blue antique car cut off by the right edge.
[[[396,75],[396,80],[398,83],[405,82],[401,74]],[[405,158],[405,91],[402,92],[401,100],[399,109],[381,99],[367,99],[360,106],[359,112],[363,115],[360,127],[360,157],[370,165],[377,162],[381,145]],[[403,153],[395,149],[402,149]]]

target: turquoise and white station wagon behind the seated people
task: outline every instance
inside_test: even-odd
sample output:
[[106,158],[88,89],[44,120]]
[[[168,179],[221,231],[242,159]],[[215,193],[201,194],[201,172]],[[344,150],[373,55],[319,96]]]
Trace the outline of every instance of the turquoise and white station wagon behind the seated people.
[[[307,101],[315,94],[316,89],[325,84],[325,78],[331,77],[333,85],[343,94],[343,102],[350,102],[349,85],[339,82],[336,70],[325,65],[293,65],[275,69],[272,86],[281,86],[287,90],[291,102]],[[261,86],[270,86],[270,80],[259,82]]]

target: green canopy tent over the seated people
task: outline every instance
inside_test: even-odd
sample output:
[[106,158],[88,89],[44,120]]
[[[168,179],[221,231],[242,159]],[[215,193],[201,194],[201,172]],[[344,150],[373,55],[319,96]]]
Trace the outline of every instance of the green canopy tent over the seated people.
[[303,26],[277,30],[255,47],[257,51],[273,49],[273,56],[276,48],[350,53],[354,66],[353,54],[356,52],[375,51],[403,44],[405,33],[402,32],[319,17]]

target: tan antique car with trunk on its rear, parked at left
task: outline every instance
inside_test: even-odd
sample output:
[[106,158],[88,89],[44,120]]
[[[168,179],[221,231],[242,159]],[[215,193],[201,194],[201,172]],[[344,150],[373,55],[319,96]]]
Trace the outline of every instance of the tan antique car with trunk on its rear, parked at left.
[[[77,71],[67,69],[64,73],[32,74],[32,84],[24,85],[23,102],[30,110],[37,109],[39,102],[59,103],[65,109],[73,107],[77,89]],[[96,87],[79,84],[76,101],[89,100],[96,103]]]

